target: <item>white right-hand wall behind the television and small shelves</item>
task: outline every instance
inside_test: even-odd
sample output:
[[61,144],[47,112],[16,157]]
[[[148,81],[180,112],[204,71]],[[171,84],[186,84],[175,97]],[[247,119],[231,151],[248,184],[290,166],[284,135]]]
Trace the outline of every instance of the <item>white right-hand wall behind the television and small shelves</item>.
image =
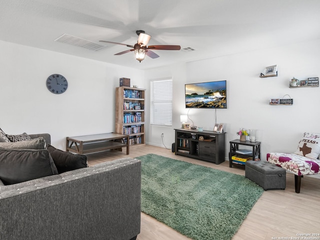
[[[150,126],[147,141],[159,145],[164,132],[164,143],[171,146],[173,129],[181,125],[179,115],[187,113],[185,83],[226,80],[227,109],[216,110],[217,122],[226,124],[226,157],[229,141],[239,137],[235,132],[240,127],[258,129],[262,159],[270,151],[295,151],[304,131],[320,132],[320,88],[289,88],[289,80],[293,76],[300,80],[318,77],[319,54],[320,40],[313,40],[145,71],[147,80],[172,76],[174,82],[173,126]],[[278,65],[278,76],[260,78],[264,67],[273,64]],[[270,98],[285,94],[293,98],[293,105],[269,105]],[[192,108],[188,115],[195,125],[205,130],[213,128],[215,110]]]

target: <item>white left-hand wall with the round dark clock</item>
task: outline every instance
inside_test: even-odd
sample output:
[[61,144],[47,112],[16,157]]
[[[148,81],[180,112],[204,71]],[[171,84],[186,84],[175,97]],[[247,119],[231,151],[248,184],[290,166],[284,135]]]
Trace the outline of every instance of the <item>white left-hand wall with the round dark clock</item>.
[[[8,134],[48,132],[60,149],[66,136],[114,131],[119,77],[144,87],[141,70],[4,41],[0,51],[0,127]],[[52,73],[68,80],[64,93],[47,90]]]

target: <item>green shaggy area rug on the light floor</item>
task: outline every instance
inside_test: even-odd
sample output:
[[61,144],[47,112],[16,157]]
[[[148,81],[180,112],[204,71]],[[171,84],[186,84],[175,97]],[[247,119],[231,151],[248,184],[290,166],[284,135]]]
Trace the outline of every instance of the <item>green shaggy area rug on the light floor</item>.
[[231,239],[263,192],[241,175],[155,154],[136,158],[141,211],[192,239]]

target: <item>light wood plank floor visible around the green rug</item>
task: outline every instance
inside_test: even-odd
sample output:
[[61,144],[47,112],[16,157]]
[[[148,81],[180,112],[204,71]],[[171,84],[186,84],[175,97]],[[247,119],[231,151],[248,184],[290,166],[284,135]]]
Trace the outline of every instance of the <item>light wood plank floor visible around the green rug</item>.
[[[168,156],[194,164],[244,175],[244,168],[237,166],[230,168],[228,161],[216,165],[190,157],[175,155],[171,152],[171,149],[151,145],[131,147],[129,155],[126,155],[125,151],[111,150],[92,153],[87,156],[89,165],[94,165],[120,157],[137,157],[147,153]],[[279,239],[279,237],[288,237],[286,239],[290,239],[290,237],[297,237],[298,233],[320,233],[320,179],[304,176],[301,180],[300,193],[295,193],[294,175],[287,173],[285,190],[274,189],[264,191],[232,239],[256,240]],[[320,239],[319,235],[316,237]],[[137,239],[182,240],[189,238],[152,217],[141,213],[141,232]]]

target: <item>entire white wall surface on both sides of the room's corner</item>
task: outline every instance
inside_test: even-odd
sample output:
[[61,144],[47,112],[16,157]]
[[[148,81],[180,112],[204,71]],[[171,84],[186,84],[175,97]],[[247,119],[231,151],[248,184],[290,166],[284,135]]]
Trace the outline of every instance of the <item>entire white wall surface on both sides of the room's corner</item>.
[[[320,132],[318,126],[320,88],[289,88],[298,79],[319,76],[320,40],[251,51],[149,70],[114,64],[0,41],[0,127],[7,133],[49,132],[52,144],[65,147],[65,137],[114,130],[114,89],[119,77],[131,78],[131,85],[146,88],[146,142],[170,148],[174,128],[186,114],[184,84],[227,80],[227,109],[217,109],[217,122],[224,122],[226,153],[229,140],[238,138],[240,127],[256,128],[262,157],[269,151],[295,150],[302,132]],[[265,66],[277,64],[278,76],[259,78]],[[55,95],[45,86],[52,73],[64,75],[69,83],[65,93]],[[151,126],[149,81],[172,77],[172,127]],[[289,94],[291,106],[269,105],[270,98]],[[191,109],[197,126],[211,130],[215,110]],[[227,154],[226,154],[227,155]]]

